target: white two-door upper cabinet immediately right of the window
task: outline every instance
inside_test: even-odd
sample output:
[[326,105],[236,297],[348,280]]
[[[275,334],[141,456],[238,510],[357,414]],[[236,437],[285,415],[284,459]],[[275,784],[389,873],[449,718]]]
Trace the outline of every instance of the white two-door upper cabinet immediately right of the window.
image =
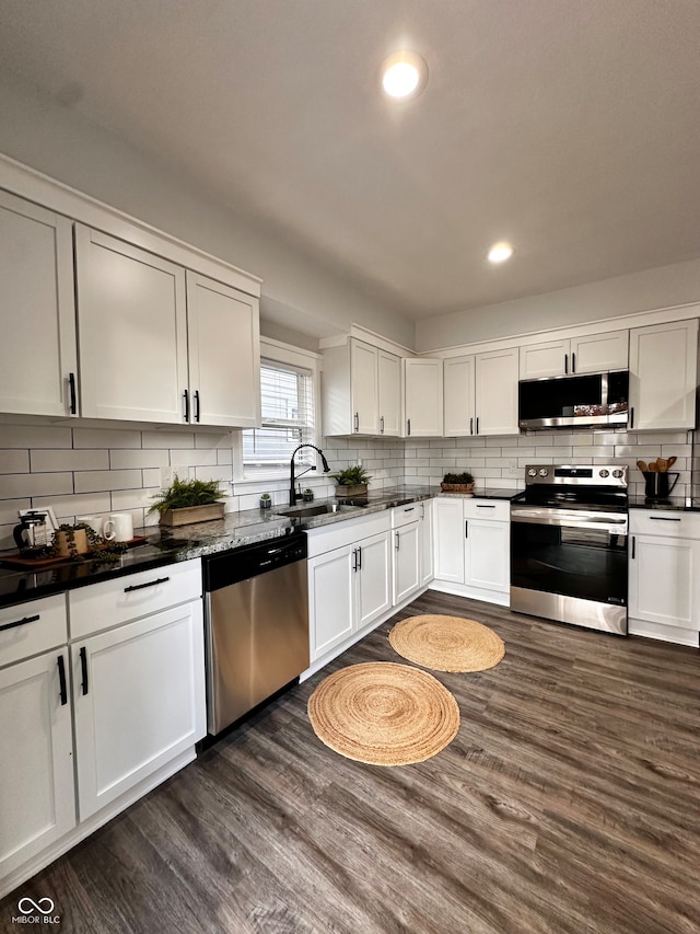
[[398,437],[400,357],[355,337],[323,356],[324,435]]

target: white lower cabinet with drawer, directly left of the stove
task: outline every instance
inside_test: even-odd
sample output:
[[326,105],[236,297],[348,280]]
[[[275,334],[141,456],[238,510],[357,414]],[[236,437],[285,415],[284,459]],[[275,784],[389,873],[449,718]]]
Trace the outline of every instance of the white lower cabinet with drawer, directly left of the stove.
[[439,496],[433,501],[433,587],[508,606],[511,581],[510,504]]

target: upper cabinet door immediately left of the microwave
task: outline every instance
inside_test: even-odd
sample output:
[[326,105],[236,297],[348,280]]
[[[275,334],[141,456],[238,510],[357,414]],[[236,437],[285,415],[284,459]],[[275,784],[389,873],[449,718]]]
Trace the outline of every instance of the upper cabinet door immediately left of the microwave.
[[517,435],[517,349],[476,357],[477,435]]

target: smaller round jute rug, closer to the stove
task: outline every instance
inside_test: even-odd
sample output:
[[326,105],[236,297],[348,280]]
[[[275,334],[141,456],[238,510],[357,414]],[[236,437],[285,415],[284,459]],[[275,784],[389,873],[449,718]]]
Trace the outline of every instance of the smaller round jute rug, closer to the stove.
[[395,652],[436,671],[485,671],[505,655],[493,630],[460,616],[409,616],[389,633]]

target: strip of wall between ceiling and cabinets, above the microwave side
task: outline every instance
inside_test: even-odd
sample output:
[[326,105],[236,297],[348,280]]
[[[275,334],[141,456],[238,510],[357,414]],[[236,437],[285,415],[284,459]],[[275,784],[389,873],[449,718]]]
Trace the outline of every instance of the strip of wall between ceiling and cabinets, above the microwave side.
[[690,260],[541,296],[424,319],[416,325],[416,349],[419,353],[439,350],[699,300],[700,260]]

